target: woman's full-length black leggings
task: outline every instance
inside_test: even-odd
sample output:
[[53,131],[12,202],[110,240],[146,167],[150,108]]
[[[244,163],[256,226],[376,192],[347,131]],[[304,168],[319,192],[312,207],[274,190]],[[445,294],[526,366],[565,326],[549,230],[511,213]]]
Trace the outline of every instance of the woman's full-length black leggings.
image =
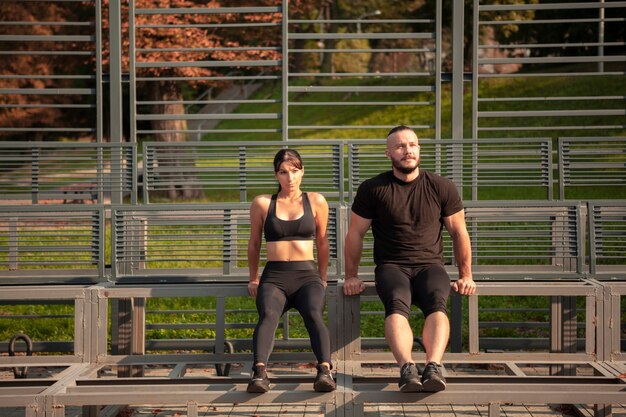
[[330,362],[330,336],[324,323],[326,291],[313,261],[268,262],[256,296],[259,321],[254,329],[254,363],[267,363],[278,322],[290,308],[298,310],[309,332],[318,363]]

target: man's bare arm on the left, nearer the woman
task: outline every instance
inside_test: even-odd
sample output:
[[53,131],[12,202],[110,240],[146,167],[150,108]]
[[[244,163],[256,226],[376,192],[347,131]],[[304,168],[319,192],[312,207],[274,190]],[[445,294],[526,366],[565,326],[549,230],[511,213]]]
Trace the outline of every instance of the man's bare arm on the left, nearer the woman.
[[365,285],[359,279],[359,263],[363,251],[363,238],[371,224],[371,219],[366,219],[352,212],[344,247],[346,277],[343,293],[345,295],[360,294],[365,289]]

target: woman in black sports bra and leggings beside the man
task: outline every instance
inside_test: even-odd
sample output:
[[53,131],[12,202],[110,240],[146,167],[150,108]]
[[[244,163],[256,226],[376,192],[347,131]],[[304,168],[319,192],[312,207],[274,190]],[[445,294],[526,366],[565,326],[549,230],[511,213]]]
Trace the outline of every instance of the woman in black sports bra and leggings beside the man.
[[[252,339],[254,366],[247,391],[269,391],[266,367],[274,335],[280,318],[292,307],[304,319],[318,361],[313,388],[320,392],[332,391],[336,384],[330,372],[330,337],[323,318],[328,269],[328,204],[321,194],[300,190],[304,168],[295,150],[281,149],[276,153],[274,175],[278,192],[255,197],[250,207],[248,292],[256,298],[259,321]],[[267,262],[259,279],[263,232]]]

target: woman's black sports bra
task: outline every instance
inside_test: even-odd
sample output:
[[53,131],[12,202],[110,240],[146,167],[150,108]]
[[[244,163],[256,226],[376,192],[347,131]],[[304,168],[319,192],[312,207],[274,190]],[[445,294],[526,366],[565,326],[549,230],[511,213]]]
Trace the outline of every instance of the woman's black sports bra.
[[272,195],[267,218],[263,225],[265,241],[278,242],[283,240],[315,240],[315,218],[309,203],[309,197],[302,193],[304,214],[296,220],[282,220],[276,217],[276,197]]

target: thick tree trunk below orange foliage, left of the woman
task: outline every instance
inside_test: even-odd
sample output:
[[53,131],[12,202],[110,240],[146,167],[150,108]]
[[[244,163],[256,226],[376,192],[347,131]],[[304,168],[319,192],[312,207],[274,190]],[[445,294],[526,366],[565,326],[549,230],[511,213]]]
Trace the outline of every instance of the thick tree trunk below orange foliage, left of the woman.
[[[183,96],[178,84],[170,81],[159,81],[154,83],[152,90],[154,101],[171,102],[171,104],[155,104],[153,114],[159,115],[184,115],[185,107],[182,104]],[[187,121],[184,119],[175,120],[153,120],[152,129],[164,131],[155,133],[157,141],[161,142],[185,142],[187,140]],[[196,176],[192,172],[185,172],[185,167],[195,165],[194,159],[185,158],[184,162],[179,161],[175,155],[176,147],[164,148],[163,158],[159,160],[161,167],[176,168],[176,174],[171,178],[171,185],[165,191],[170,200],[203,198],[204,191],[198,184]],[[194,188],[195,187],[195,188]]]

